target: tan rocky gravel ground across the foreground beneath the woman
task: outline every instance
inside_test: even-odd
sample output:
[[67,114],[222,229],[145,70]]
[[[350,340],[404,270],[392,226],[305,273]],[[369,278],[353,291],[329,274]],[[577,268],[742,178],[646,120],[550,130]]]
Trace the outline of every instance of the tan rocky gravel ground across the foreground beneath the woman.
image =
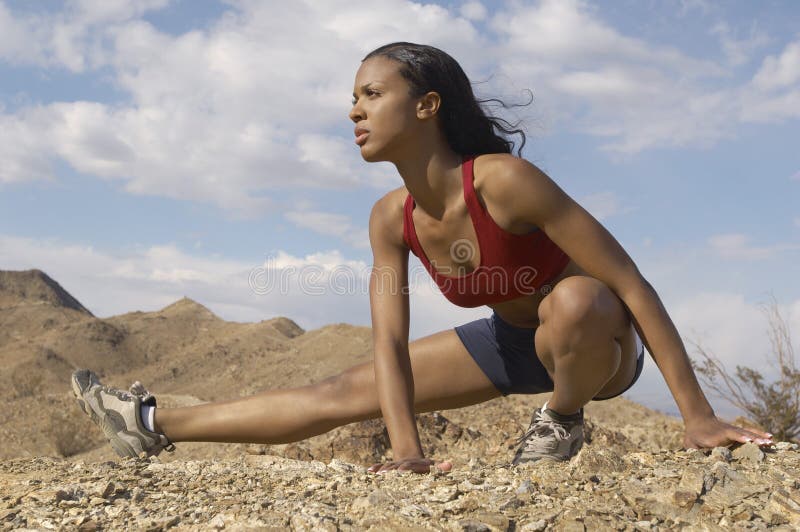
[[479,458],[449,473],[373,475],[338,459],[270,455],[164,463],[0,463],[5,529],[797,530],[800,453],[620,454],[568,464]]

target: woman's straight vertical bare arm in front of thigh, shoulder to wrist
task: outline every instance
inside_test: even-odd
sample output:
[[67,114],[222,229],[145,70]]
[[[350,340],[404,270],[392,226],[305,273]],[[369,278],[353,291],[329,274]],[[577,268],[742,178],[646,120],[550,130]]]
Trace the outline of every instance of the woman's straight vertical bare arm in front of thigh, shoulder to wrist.
[[[408,249],[391,193],[375,203],[369,239],[373,267],[369,282],[375,384],[395,461],[422,458],[414,418],[414,379],[408,353]],[[400,213],[402,216],[402,212]],[[402,218],[400,218],[402,220]]]

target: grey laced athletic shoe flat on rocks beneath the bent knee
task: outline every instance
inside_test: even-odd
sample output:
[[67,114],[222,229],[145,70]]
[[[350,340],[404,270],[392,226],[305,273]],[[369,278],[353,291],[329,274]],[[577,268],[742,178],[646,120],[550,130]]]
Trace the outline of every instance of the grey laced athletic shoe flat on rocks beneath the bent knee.
[[583,408],[577,414],[562,416],[545,403],[534,410],[528,430],[516,443],[520,446],[512,465],[539,460],[566,462],[583,446]]

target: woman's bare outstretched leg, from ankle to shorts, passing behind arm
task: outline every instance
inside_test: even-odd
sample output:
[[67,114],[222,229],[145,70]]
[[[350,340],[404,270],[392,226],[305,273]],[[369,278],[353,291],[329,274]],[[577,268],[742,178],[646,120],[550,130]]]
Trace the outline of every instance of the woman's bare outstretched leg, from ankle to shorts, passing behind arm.
[[[409,343],[416,412],[460,408],[500,396],[454,330]],[[373,363],[316,384],[185,408],[156,409],[173,442],[287,443],[380,416]]]

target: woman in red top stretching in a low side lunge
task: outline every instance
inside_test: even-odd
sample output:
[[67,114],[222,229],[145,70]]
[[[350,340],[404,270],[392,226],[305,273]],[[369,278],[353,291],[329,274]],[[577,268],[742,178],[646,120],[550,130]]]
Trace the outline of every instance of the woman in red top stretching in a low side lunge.
[[[552,390],[513,463],[568,460],[583,443],[583,406],[638,378],[640,335],[684,418],[686,447],[771,443],[716,418],[653,287],[603,226],[511,155],[503,134],[514,131],[485,115],[449,55],[410,43],[374,50],[356,74],[350,118],[363,159],[392,162],[405,184],[370,215],[374,361],[302,388],[175,409],[76,371],[81,406],[120,455],[179,441],[286,443],[383,415],[394,460],[369,471],[446,471],[451,463],[424,456],[415,412]],[[488,305],[492,317],[409,343],[409,251],[450,301]]]

